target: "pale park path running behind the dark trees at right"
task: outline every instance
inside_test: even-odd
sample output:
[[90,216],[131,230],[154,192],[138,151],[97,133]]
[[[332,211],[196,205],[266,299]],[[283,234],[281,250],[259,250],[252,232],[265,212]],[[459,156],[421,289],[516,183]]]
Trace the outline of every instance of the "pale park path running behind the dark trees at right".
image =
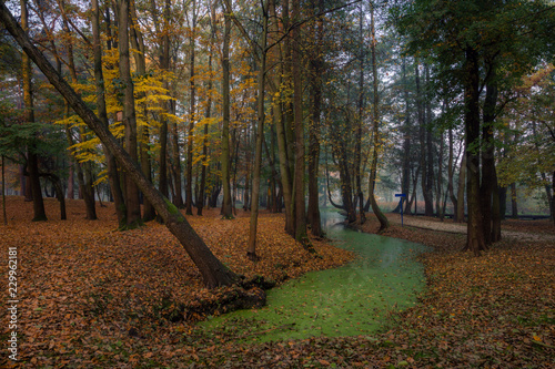
[[[393,224],[401,224],[401,216],[398,214],[387,214],[387,218]],[[440,222],[438,219],[421,216],[404,216],[403,223],[405,226],[415,228],[466,234],[466,223]],[[517,240],[552,242],[555,244],[555,235],[552,234],[506,230],[502,227],[501,235],[502,237]]]

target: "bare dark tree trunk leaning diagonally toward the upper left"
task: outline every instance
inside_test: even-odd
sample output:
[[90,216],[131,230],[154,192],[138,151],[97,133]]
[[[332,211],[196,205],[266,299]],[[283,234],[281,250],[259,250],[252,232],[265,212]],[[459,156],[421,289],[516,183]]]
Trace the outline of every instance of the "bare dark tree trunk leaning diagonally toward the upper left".
[[65,98],[73,110],[79,114],[83,122],[98,135],[100,141],[107,145],[112,154],[119,161],[121,167],[125,171],[137,185],[141,188],[144,196],[154,205],[158,214],[164,221],[168,229],[180,240],[191,259],[199,268],[204,284],[209,288],[231,285],[238,280],[238,276],[225,267],[208,248],[202,238],[194,232],[179,209],[173,206],[168,198],[150,183],[141,173],[137,162],[118,143],[115,137],[102,124],[97,115],[79,98],[75,91],[57,73],[56,69],[49,63],[44,55],[31,43],[27,34],[18,24],[3,2],[0,2],[0,21],[6,29],[13,35],[23,51],[34,61],[50,83]]

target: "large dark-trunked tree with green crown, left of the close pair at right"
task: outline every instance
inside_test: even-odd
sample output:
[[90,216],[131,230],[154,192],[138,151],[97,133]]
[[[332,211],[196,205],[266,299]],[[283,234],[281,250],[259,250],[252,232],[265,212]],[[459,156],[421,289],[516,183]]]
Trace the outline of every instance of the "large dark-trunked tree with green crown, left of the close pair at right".
[[[542,0],[416,0],[397,10],[400,29],[412,37],[410,51],[427,53],[428,59],[445,71],[444,79],[464,89],[466,248],[480,255],[486,247],[483,202],[490,204],[491,201],[480,195],[481,176],[487,180],[492,171],[491,165],[486,163],[483,167],[480,161],[482,143],[487,141],[482,137],[482,89],[492,79],[501,81],[495,78],[498,73],[492,73],[495,72],[493,65],[503,69],[504,89],[508,90],[542,58],[553,55],[554,8]],[[507,34],[514,37],[507,38]]]

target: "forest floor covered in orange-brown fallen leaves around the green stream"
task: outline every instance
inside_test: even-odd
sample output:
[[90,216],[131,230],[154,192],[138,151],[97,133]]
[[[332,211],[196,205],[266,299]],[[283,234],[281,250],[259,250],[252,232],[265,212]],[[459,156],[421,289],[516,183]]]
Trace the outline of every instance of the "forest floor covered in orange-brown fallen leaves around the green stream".
[[[169,320],[181,304],[216,304],[226,291],[202,288],[200,274],[165,227],[149,223],[122,233],[110,206],[98,207],[94,222],[83,219],[82,202],[68,206],[69,221],[58,221],[58,204],[48,199],[51,221],[31,223],[32,204],[9,197],[9,224],[0,225],[0,239],[4,260],[8,247],[18,247],[20,360],[8,360],[4,315],[1,367],[548,368],[555,360],[549,240],[506,237],[474,257],[461,252],[465,235],[393,224],[385,235],[433,247],[420,257],[427,277],[420,304],[392,311],[387,328],[372,336],[252,344],[241,330],[206,332],[194,326],[202,312],[189,316],[191,321]],[[245,256],[248,217],[222,221],[212,211],[188,219],[219,258],[246,277],[281,283],[353,257],[313,240],[315,257],[285,235],[282,215],[261,214],[261,260],[252,263]],[[554,233],[547,221],[508,221],[503,227]],[[363,230],[376,229],[369,215]],[[7,300],[6,293],[3,311]]]

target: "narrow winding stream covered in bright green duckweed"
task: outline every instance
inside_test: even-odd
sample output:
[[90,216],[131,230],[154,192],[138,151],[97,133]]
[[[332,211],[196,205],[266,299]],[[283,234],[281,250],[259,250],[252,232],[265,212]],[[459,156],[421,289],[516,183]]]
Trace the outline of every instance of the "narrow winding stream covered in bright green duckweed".
[[327,237],[359,255],[354,262],[269,290],[262,309],[234,311],[202,325],[241,329],[249,340],[260,341],[356,336],[377,330],[389,312],[416,304],[425,278],[414,257],[425,246],[345,228],[334,212],[322,217]]

